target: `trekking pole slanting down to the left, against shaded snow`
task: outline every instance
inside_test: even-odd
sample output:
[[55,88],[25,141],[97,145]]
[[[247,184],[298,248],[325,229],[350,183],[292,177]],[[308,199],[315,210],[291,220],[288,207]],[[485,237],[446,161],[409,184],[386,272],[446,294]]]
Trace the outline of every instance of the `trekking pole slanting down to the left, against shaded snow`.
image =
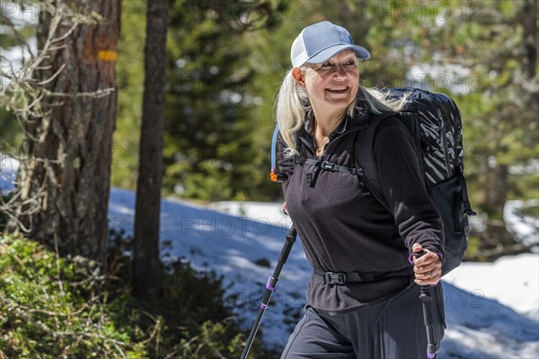
[[275,287],[277,286],[278,276],[280,275],[280,271],[287,263],[288,255],[290,254],[290,250],[292,250],[292,246],[296,242],[296,228],[292,226],[290,228],[290,232],[287,234],[287,241],[285,241],[285,245],[283,246],[283,249],[281,250],[280,256],[278,257],[278,263],[275,267],[275,270],[273,271],[273,276],[268,277],[268,281],[266,282],[266,292],[264,293],[264,296],[262,298],[261,302],[261,310],[258,313],[258,317],[256,317],[256,320],[254,320],[254,324],[251,329],[251,334],[249,334],[249,338],[247,339],[247,343],[245,344],[245,348],[243,349],[243,354],[240,359],[246,359],[247,355],[249,354],[249,350],[251,350],[252,342],[254,340],[254,337],[256,336],[256,332],[258,331],[258,328],[261,326],[261,320],[262,316],[264,315],[264,311],[266,311],[266,308],[268,308],[268,304],[270,303],[271,294],[275,290]]

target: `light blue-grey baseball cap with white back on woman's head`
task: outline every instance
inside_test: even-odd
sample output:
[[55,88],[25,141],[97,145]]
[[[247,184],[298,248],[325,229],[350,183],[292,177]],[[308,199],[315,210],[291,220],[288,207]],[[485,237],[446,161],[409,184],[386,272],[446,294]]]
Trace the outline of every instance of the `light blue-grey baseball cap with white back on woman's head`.
[[354,44],[348,30],[331,22],[316,22],[307,26],[292,43],[290,59],[292,66],[305,63],[319,64],[338,52],[351,48],[359,58],[370,57],[366,48]]

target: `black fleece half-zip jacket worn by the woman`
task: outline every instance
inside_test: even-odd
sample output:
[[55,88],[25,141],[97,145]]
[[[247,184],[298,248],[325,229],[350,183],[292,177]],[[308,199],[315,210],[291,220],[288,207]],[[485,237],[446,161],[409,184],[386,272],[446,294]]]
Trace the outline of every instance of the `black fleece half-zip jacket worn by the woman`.
[[[321,272],[391,272],[410,267],[414,243],[443,255],[443,227],[424,186],[410,132],[398,118],[386,117],[376,130],[374,156],[389,213],[357,176],[320,170],[314,186],[307,183],[310,164],[286,159],[278,143],[279,168],[287,210],[305,255]],[[364,115],[367,116],[367,115]],[[356,167],[355,144],[365,125],[361,115],[344,118],[330,135],[320,159]],[[314,158],[313,118],[307,116],[298,134],[300,156]],[[369,151],[365,149],[365,151]],[[363,153],[365,155],[366,153]],[[319,311],[345,312],[383,302],[410,285],[410,276],[391,276],[370,283],[324,284],[312,276],[307,300]]]

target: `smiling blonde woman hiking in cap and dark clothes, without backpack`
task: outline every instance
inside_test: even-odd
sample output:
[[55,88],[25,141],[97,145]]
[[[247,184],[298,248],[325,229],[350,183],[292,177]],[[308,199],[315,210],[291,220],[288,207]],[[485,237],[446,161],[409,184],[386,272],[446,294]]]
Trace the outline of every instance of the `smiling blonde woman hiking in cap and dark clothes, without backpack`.
[[[442,223],[411,135],[392,117],[398,104],[359,84],[358,58],[369,57],[349,31],[331,22],[306,27],[291,48],[293,68],[276,106],[279,167],[287,175],[284,209],[314,275],[305,315],[281,358],[425,357],[418,298],[420,285],[441,294]],[[374,150],[357,153],[359,131],[379,116],[385,118]],[[359,155],[374,156],[391,213],[358,176],[308,162],[355,167]],[[443,309],[433,307],[439,343]]]

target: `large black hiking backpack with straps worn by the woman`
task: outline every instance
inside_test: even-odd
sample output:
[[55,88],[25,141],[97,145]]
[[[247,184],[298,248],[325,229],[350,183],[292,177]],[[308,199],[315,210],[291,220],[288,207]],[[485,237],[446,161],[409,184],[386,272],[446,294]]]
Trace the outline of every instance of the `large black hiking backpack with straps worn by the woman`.
[[[425,175],[429,196],[437,206],[444,223],[446,256],[442,275],[458,267],[468,247],[469,215],[476,215],[470,206],[466,180],[464,180],[464,148],[461,116],[455,101],[443,93],[432,93],[420,89],[390,89],[387,94],[392,100],[400,100],[407,95],[403,108],[397,113],[415,141],[420,167]],[[356,158],[357,168],[340,166],[336,163],[315,159],[296,158],[296,162],[320,166],[325,171],[341,171],[358,175],[367,189],[388,210],[380,181],[376,176],[373,158],[376,127],[384,120],[377,120],[359,131],[356,153],[364,153]],[[286,177],[275,173],[276,127],[272,143],[272,180],[284,181]],[[367,149],[367,151],[365,151]],[[391,212],[391,211],[390,211]]]

